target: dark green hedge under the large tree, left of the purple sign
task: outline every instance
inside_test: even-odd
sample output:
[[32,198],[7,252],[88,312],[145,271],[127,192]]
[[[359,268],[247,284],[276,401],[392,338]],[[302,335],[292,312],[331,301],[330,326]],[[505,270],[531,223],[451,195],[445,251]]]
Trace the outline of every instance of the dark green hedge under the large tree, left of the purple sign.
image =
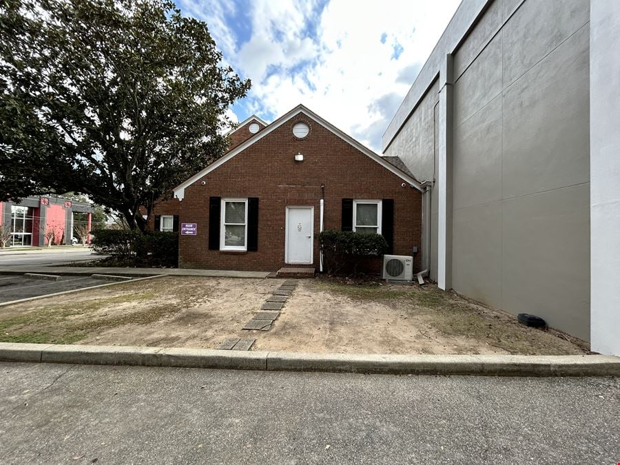
[[149,267],[178,265],[178,233],[132,229],[97,229],[92,231],[92,247],[110,255],[114,262]]

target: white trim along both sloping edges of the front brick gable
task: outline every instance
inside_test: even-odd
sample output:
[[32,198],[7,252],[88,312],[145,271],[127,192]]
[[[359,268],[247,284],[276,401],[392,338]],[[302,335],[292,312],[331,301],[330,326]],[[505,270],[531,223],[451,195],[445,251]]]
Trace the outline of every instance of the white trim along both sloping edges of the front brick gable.
[[304,105],[297,105],[292,110],[283,114],[282,116],[280,116],[280,118],[276,119],[276,121],[273,121],[273,123],[267,125],[264,130],[257,132],[256,134],[254,134],[254,136],[251,136],[249,139],[247,139],[247,141],[240,143],[237,147],[225,154],[222,158],[219,158],[217,161],[214,161],[214,163],[211,163],[211,165],[207,166],[205,169],[202,169],[200,172],[194,174],[194,176],[192,176],[191,178],[188,178],[183,183],[180,183],[174,188],[174,196],[179,200],[183,200],[183,197],[185,196],[185,187],[194,184],[197,180],[212,172],[214,169],[217,169],[219,166],[223,165],[240,152],[243,152],[245,149],[247,149],[247,147],[257,141],[260,141],[260,139],[267,136],[267,134],[278,129],[278,127],[291,120],[292,118],[295,118],[299,114],[303,114],[304,116],[311,118],[316,123],[319,123],[325,129],[335,134],[335,136],[340,137],[343,141],[349,143],[349,145],[352,145],[360,152],[362,152],[362,154],[368,156],[369,158],[372,158],[375,162],[379,163],[379,165],[392,172],[393,174],[404,180],[406,183],[409,183],[411,187],[414,187],[418,191],[422,192],[422,187],[420,186],[420,183],[411,174],[404,172],[399,167],[393,165],[389,161],[384,160],[384,157],[375,154],[375,152],[373,152],[371,149],[362,145],[358,141],[355,141],[354,138],[339,130],[338,127],[335,127],[331,123],[328,123],[323,118],[318,116],[318,114],[312,112],[307,107],[304,107]]

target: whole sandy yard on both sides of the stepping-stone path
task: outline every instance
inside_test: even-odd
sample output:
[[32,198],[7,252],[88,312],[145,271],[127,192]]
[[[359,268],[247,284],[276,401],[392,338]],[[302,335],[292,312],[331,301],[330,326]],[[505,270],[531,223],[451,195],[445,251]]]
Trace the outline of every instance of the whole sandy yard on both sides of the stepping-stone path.
[[271,331],[242,325],[284,280],[165,277],[0,308],[0,342],[338,353],[583,353],[587,344],[434,286],[300,280]]

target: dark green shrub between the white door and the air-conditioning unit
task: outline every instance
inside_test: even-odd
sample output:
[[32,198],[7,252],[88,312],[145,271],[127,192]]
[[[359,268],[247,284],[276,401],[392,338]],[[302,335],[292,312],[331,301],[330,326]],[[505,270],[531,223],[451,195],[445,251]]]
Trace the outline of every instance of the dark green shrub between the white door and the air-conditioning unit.
[[353,269],[364,258],[383,255],[389,245],[380,234],[362,234],[353,231],[322,231],[316,235],[327,273],[334,274],[342,269]]

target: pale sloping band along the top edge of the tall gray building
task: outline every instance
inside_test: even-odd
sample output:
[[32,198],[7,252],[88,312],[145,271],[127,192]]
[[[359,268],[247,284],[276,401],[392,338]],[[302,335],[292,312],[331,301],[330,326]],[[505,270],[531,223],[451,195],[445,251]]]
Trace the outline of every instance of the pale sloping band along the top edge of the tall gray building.
[[417,78],[385,130],[381,138],[382,152],[385,152],[402,125],[411,116],[411,112],[417,107],[420,99],[426,94],[428,87],[435,81],[441,65],[446,59],[446,54],[451,54],[456,50],[482,13],[484,13],[487,6],[493,1],[464,0],[459,5],[446,30],[444,30],[442,37],[437,41],[433,52],[426,59],[422,70],[417,74]]

